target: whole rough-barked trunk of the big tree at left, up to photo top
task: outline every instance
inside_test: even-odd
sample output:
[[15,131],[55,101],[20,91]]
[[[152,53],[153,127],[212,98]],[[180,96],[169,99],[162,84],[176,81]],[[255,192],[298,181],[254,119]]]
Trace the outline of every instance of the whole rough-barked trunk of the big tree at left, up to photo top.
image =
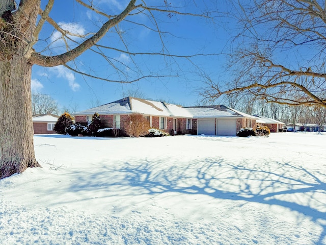
[[25,57],[38,8],[39,1],[21,1],[15,12],[20,17],[0,23],[0,179],[40,166],[33,143],[32,65]]

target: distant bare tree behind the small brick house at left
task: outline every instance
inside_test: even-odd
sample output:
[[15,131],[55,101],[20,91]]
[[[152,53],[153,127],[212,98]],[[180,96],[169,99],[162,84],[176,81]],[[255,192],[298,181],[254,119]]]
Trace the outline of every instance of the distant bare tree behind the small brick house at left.
[[59,114],[58,103],[48,94],[32,93],[32,113]]

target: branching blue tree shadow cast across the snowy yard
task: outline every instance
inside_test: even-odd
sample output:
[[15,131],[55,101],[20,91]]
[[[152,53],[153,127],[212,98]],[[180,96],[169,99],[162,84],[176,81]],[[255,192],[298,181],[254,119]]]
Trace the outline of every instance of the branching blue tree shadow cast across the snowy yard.
[[[166,192],[202,194],[216,199],[279,205],[320,224],[323,230],[316,244],[324,241],[326,225],[318,219],[326,217],[325,174],[268,160],[232,164],[219,158],[206,158],[182,167],[177,161],[175,163],[171,158],[167,162],[138,159],[112,165],[103,163],[96,173],[78,175],[69,191],[103,188],[110,192],[110,189],[124,186],[141,190],[137,193],[153,195]],[[116,180],[107,181],[108,178]],[[291,198],[293,195],[299,198]],[[300,199],[300,195],[304,197]]]

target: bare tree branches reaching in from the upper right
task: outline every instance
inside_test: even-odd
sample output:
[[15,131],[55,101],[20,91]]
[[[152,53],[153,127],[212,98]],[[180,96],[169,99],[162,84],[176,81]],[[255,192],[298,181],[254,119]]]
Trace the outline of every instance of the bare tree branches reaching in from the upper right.
[[[267,102],[326,108],[326,8],[316,0],[230,1],[241,32],[230,47],[231,80],[204,95],[249,93]],[[230,79],[230,78],[229,78]]]

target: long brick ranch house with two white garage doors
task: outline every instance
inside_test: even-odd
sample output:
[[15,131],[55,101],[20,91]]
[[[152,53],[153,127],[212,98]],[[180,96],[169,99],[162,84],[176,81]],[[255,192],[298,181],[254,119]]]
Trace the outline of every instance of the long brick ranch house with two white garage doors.
[[175,134],[206,134],[235,136],[243,127],[253,127],[256,117],[226,106],[181,107],[165,102],[134,97],[74,113],[76,122],[91,121],[97,112],[103,128],[114,128],[125,135],[130,124],[129,115],[141,113],[150,127]]

